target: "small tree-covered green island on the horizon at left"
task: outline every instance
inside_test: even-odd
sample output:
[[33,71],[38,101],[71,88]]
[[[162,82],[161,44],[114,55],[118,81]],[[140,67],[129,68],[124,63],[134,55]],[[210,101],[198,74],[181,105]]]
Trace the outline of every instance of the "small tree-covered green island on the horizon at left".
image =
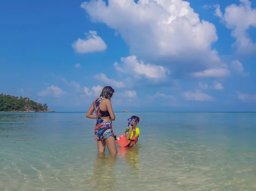
[[46,103],[37,103],[28,97],[0,94],[0,112],[55,112]]

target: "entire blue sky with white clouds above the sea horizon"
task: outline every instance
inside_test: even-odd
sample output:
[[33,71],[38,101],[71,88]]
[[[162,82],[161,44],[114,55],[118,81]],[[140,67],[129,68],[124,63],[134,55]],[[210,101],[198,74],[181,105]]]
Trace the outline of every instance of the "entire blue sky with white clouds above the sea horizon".
[[[188,3],[189,2],[189,3]],[[256,3],[5,1],[0,91],[87,111],[255,111]]]

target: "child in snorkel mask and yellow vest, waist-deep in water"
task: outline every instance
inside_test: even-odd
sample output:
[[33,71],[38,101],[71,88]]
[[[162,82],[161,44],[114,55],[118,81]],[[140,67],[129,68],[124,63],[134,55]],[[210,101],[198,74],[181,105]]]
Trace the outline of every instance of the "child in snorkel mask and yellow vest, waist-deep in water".
[[128,119],[128,128],[125,129],[126,139],[128,140],[128,146],[137,145],[138,144],[138,137],[140,136],[140,129],[137,125],[140,122],[140,118],[133,115],[131,118]]

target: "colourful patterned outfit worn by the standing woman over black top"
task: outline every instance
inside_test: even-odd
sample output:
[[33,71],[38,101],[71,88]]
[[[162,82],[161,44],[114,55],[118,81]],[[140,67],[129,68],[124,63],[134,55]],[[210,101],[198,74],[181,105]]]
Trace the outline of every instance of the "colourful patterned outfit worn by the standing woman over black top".
[[[112,121],[104,121],[102,120],[101,110],[99,108],[99,104],[105,98],[98,98],[95,100],[95,112],[96,112],[96,125],[94,129],[94,140],[96,141],[104,141],[104,139],[113,136],[116,140],[116,134],[113,133],[112,130]],[[104,111],[103,111],[104,112]]]

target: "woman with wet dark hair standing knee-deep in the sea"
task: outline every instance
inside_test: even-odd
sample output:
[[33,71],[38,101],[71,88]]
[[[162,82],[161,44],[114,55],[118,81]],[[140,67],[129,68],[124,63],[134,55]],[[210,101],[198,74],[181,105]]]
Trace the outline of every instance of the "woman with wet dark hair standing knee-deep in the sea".
[[[110,154],[117,154],[116,135],[112,130],[112,120],[116,119],[111,105],[114,93],[111,86],[105,86],[100,97],[93,101],[86,114],[87,118],[96,119],[94,140],[97,141],[98,153],[105,152],[107,145]],[[93,114],[94,110],[96,115]]]

